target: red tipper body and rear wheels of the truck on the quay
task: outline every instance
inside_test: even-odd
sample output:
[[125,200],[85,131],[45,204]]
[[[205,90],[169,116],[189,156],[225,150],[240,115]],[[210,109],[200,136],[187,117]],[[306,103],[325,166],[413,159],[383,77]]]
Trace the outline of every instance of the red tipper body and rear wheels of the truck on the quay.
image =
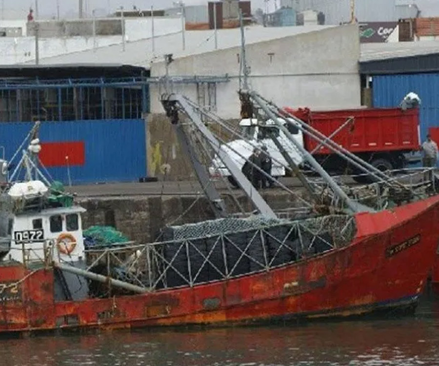
[[[381,170],[418,163],[419,108],[367,108],[314,112],[308,108],[285,111],[319,130],[346,150]],[[346,163],[308,136],[305,148],[332,172],[345,172]],[[355,170],[353,169],[355,172]]]

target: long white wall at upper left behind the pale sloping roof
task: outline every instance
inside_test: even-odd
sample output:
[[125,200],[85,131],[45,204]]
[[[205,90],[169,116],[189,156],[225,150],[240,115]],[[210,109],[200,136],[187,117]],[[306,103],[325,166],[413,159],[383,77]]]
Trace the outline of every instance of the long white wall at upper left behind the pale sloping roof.
[[[152,35],[150,19],[127,19],[125,24],[127,41],[138,41],[150,38]],[[154,20],[154,33],[156,36],[175,33],[180,29],[181,21],[179,19]],[[119,44],[122,43],[122,36],[97,37],[96,43],[97,47]],[[91,50],[93,49],[94,42],[93,37],[45,38],[39,40],[39,45],[41,60],[48,57]],[[35,37],[0,38],[0,55],[0,63],[3,65],[35,61]]]

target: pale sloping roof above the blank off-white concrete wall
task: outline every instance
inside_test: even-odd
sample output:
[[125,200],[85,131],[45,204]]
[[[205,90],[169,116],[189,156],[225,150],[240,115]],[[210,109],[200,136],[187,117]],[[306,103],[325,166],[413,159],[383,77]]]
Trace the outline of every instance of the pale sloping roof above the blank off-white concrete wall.
[[[249,26],[245,28],[246,43],[257,43],[261,41],[270,41],[309,33],[330,28],[325,25],[306,25],[292,27],[262,27]],[[125,52],[122,51],[122,45],[111,45],[75,52],[61,56],[49,57],[40,60],[42,65],[50,64],[102,64],[118,63],[127,65],[136,65],[148,67],[150,62],[160,60],[164,54],[172,53],[174,58],[190,56],[210,51],[215,51],[214,31],[186,31],[185,32],[185,50],[182,50],[181,32],[166,36],[157,37],[154,40],[155,55],[152,52],[152,39],[145,39],[134,42],[126,42]],[[240,29],[221,29],[218,30],[218,49],[237,47],[240,44]]]

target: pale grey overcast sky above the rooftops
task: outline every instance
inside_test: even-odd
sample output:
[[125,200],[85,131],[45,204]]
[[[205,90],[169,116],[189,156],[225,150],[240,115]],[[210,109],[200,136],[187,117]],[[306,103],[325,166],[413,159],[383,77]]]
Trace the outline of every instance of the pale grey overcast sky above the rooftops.
[[[32,6],[35,9],[36,0],[0,0],[3,4],[4,18],[21,18],[25,17],[28,13],[29,7]],[[88,13],[91,13],[92,9],[111,9],[114,12],[120,5],[123,5],[125,9],[132,9],[133,5],[138,8],[149,9],[151,5],[156,8],[166,8],[172,6],[173,0],[83,0],[86,4]],[[207,0],[183,0],[185,4],[205,4]],[[253,10],[258,7],[264,8],[264,0],[251,0]],[[269,0],[274,6],[275,0]],[[338,0],[328,0],[338,1]],[[394,1],[394,0],[383,0]],[[399,3],[415,2],[422,10],[422,16],[439,16],[439,0],[397,0]],[[38,7],[40,16],[56,16],[57,3],[60,4],[60,16],[68,15],[72,17],[78,14],[79,0],[38,0]],[[0,8],[1,11],[1,8]]]

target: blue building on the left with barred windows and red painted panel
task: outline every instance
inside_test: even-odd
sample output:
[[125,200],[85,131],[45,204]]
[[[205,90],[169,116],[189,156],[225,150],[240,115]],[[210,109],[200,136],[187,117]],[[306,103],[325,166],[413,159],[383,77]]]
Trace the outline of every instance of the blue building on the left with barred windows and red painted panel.
[[146,73],[123,65],[0,67],[4,157],[41,121],[40,160],[54,180],[139,181],[147,171]]

